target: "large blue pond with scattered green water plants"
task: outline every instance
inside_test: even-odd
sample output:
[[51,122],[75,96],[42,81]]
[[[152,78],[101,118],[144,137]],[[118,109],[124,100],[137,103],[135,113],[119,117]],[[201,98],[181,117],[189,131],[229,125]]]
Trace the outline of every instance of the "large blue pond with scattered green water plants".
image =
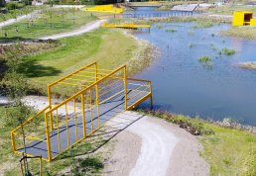
[[[233,118],[256,126],[256,71],[237,66],[256,61],[256,42],[221,36],[220,31],[230,28],[227,24],[194,25],[159,23],[153,24],[150,33],[135,34],[162,52],[137,75],[152,80],[154,107],[192,117]],[[225,47],[236,53],[219,54]],[[210,57],[210,64],[200,62],[201,56]]]

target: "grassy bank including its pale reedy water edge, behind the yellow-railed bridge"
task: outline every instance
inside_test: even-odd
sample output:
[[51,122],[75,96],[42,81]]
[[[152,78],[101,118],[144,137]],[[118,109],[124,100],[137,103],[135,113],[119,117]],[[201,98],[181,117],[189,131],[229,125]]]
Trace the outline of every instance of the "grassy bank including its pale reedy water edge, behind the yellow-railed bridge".
[[[40,49],[35,50],[35,46]],[[129,63],[129,74],[135,73],[150,63],[153,51],[150,44],[137,41],[121,30],[106,28],[64,38],[53,44],[31,44],[28,48],[26,44],[21,44],[19,48],[10,47],[9,50],[25,50],[19,53],[24,58],[20,71],[29,79],[30,90],[44,95],[48,84],[94,61],[106,69]],[[8,57],[8,54],[3,52],[0,60],[2,57]],[[64,89],[59,91],[60,94],[66,93]]]

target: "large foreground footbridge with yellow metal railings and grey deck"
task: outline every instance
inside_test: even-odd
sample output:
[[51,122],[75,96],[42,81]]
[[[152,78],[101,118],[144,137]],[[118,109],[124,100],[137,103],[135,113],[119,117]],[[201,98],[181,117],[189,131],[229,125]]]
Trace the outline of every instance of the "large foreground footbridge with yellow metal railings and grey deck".
[[[75,91],[56,103],[58,86]],[[93,62],[48,85],[49,105],[11,132],[12,149],[51,162],[113,117],[149,98],[153,106],[151,81],[128,78],[126,65],[107,70]]]

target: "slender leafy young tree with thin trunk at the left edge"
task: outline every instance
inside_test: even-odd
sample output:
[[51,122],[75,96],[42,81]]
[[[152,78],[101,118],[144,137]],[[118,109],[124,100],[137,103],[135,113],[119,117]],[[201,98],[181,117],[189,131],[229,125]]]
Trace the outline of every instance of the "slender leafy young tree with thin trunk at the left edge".
[[[1,84],[5,89],[5,95],[13,102],[12,107],[6,109],[5,124],[13,127],[21,126],[24,154],[26,156],[26,141],[23,123],[31,114],[31,111],[22,102],[22,97],[28,92],[28,84],[26,77],[19,72],[20,67],[23,64],[23,58],[20,56],[21,51],[22,44],[20,43],[15,44],[14,48],[6,51],[7,53],[4,59],[6,60],[7,71],[4,74]],[[25,163],[25,172],[29,175],[30,172],[26,158]]]

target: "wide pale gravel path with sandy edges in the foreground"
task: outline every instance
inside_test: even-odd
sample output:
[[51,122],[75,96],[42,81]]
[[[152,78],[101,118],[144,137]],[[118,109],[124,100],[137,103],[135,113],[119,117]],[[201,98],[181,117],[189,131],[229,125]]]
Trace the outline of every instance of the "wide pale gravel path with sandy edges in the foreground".
[[[115,149],[103,175],[205,176],[207,163],[191,133],[165,121],[125,112],[108,123],[125,129],[116,138]],[[124,128],[124,127],[127,128]]]

